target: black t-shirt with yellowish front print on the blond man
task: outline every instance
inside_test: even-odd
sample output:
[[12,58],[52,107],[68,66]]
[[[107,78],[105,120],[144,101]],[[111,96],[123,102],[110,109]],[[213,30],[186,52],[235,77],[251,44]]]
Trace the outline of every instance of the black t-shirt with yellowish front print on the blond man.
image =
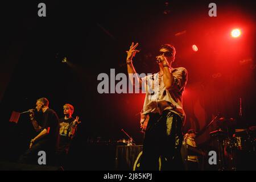
[[72,122],[75,120],[75,118],[61,118],[60,119],[60,147],[65,146],[69,143],[69,137],[68,134],[71,131]]

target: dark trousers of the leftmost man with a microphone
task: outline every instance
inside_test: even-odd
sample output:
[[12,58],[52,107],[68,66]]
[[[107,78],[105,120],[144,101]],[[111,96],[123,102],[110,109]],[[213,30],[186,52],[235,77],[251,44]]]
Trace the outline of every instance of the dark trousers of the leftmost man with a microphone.
[[46,152],[46,164],[50,164],[52,162],[51,158],[53,152],[55,150],[54,144],[49,142],[49,140],[42,140],[37,143],[34,143],[31,148],[29,148],[23,155],[21,155],[18,159],[18,163],[23,164],[38,164],[38,159],[40,155],[38,155],[39,151]]

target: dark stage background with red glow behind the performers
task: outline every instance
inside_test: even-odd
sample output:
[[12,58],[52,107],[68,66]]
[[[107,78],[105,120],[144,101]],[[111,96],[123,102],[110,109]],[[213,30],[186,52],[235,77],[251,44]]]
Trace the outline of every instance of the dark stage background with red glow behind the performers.
[[[100,73],[127,72],[131,42],[141,50],[134,59],[138,73],[158,71],[154,57],[161,44],[176,47],[172,66],[188,70],[184,132],[202,130],[218,112],[234,118],[236,128],[255,125],[254,1],[215,1],[217,17],[208,16],[211,1],[42,1],[46,17],[38,16],[40,2],[1,3],[2,160],[15,161],[34,134],[26,114],[15,124],[9,122],[11,112],[33,108],[40,97],[48,98],[60,118],[65,103],[75,106],[73,117],[82,121],[77,159],[88,140],[127,139],[121,129],[142,144],[138,113],[144,94],[97,92]],[[241,37],[231,38],[237,27]],[[207,142],[217,127],[210,126],[198,143]]]

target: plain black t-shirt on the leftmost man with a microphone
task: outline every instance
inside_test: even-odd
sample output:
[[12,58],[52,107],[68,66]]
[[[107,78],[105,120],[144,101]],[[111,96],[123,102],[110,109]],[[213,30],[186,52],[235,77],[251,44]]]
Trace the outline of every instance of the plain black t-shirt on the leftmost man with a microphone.
[[39,126],[42,127],[42,130],[49,127],[49,134],[44,136],[43,138],[40,138],[38,142],[42,140],[48,140],[53,145],[57,145],[59,143],[59,130],[60,130],[60,124],[59,124],[59,117],[52,109],[47,109],[42,114],[42,119],[38,121]]

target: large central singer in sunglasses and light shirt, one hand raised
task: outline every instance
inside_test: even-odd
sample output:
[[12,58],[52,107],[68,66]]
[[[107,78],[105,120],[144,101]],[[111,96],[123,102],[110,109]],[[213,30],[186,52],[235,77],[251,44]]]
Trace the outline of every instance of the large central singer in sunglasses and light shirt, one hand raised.
[[172,68],[175,47],[163,44],[156,56],[159,72],[139,78],[133,65],[133,57],[139,52],[137,46],[138,43],[132,43],[126,51],[126,64],[129,80],[134,83],[135,78],[133,85],[139,85],[140,89],[146,87],[142,114],[148,115],[149,120],[144,133],[141,169],[159,170],[159,157],[162,159],[161,169],[183,169],[180,154],[185,119],[182,95],[187,84],[187,70]]

